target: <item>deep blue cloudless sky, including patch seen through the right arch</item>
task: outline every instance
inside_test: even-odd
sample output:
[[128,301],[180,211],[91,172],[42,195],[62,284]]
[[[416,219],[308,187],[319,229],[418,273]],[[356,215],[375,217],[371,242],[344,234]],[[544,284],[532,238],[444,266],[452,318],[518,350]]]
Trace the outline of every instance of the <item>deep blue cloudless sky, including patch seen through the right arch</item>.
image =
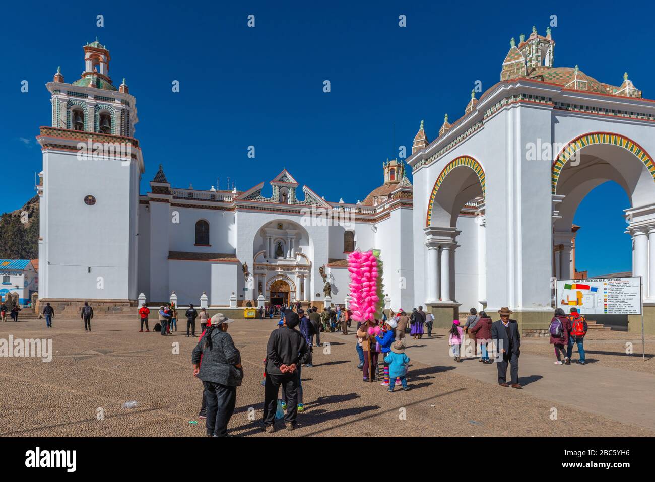
[[[193,5],[193,9],[191,9]],[[44,84],[58,65],[66,82],[83,71],[82,46],[98,36],[112,56],[115,84],[137,98],[136,137],[146,172],[158,164],[176,187],[248,189],[287,168],[328,200],[356,202],[381,184],[382,162],[411,141],[425,119],[436,137],[443,114],[457,119],[479,80],[498,81],[509,39],[544,33],[552,14],[555,65],[620,84],[624,71],[646,97],[655,92],[648,3],[307,3],[12,2],[0,19],[5,115],[0,116],[0,212],[34,194],[40,125],[50,122]],[[96,27],[103,14],[105,26]],[[255,28],[246,26],[255,15]],[[407,27],[398,16],[407,16]],[[643,38],[641,37],[643,36]],[[331,92],[323,92],[323,81]],[[22,80],[29,92],[20,92]],[[178,80],[179,94],[171,83]],[[395,144],[394,144],[395,130]],[[255,159],[248,159],[249,145]],[[4,176],[3,176],[4,177]],[[268,187],[270,189],[270,187]],[[265,195],[267,192],[265,191]],[[628,270],[629,237],[616,185],[589,197],[607,212],[581,209],[578,266],[591,274]],[[610,202],[607,202],[610,200]],[[588,206],[586,200],[582,208]],[[626,246],[607,259],[607,247]]]

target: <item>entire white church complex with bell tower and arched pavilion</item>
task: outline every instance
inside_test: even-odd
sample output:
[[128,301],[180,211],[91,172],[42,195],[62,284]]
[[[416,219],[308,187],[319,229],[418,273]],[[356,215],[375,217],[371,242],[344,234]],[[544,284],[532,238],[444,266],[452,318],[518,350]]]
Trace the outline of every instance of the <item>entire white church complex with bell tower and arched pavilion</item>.
[[543,327],[553,279],[572,278],[574,213],[612,180],[631,201],[633,273],[655,324],[655,103],[627,74],[614,86],[554,67],[554,47],[550,31],[512,39],[500,82],[472,93],[460,119],[446,118],[433,141],[421,122],[412,181],[403,160],[384,162],[382,185],[348,204],[284,169],[271,188],[180,189],[165,162],[141,194],[136,98],[124,79],[113,86],[96,40],[84,46],[81,79],[65,83],[58,71],[47,84],[39,295],[136,303],[143,293],[159,303],[175,291],[179,305],[206,293],[210,306],[228,306],[327,294],[344,304],[348,252],[375,248],[393,310],[423,305],[445,325],[460,309],[509,306],[524,329]]

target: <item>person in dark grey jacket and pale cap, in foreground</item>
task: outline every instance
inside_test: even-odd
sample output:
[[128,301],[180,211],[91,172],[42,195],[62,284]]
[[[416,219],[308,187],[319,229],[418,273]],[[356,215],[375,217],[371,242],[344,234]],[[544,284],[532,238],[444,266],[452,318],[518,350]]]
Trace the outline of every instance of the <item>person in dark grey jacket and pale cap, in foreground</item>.
[[244,377],[241,354],[227,334],[227,325],[233,321],[222,313],[212,316],[212,324],[191,354],[193,376],[202,380],[206,392],[208,437],[227,437],[236,387]]

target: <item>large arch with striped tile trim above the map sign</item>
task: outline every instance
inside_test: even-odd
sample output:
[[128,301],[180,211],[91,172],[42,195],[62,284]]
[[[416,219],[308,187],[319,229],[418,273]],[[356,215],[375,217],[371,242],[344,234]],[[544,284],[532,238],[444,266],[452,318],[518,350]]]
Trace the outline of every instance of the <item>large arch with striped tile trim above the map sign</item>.
[[[556,203],[554,278],[582,278],[585,270],[588,277],[641,276],[643,299],[646,302],[655,300],[654,176],[655,165],[650,155],[631,139],[616,134],[586,134],[571,141],[559,153],[552,172],[553,201]],[[617,196],[619,190],[624,195]],[[590,205],[588,199],[596,206]],[[596,213],[593,213],[594,208]],[[620,215],[624,217],[622,226],[618,222]],[[587,219],[586,225],[580,225],[580,219]],[[576,242],[578,229],[594,231],[597,236],[593,236],[592,242]],[[626,238],[619,241],[621,236]],[[596,254],[589,257],[587,250]],[[581,257],[585,263],[592,264],[578,269],[582,268]],[[608,259],[623,261],[610,265]],[[612,269],[605,272],[610,267]],[[621,269],[615,271],[613,267]]]

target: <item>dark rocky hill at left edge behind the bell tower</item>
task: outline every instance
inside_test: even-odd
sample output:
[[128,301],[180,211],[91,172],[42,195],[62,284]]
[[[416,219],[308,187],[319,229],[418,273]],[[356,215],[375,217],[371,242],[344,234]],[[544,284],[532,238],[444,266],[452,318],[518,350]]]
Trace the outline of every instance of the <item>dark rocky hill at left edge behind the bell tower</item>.
[[0,258],[39,257],[39,196],[22,208],[0,216]]

